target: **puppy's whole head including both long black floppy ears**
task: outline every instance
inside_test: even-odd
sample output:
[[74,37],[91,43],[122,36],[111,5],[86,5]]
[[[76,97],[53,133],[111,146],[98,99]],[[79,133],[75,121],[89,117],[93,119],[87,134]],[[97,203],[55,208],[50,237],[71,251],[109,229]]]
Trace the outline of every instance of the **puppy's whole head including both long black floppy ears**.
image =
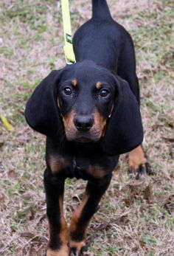
[[58,142],[102,138],[111,154],[142,142],[139,106],[128,84],[87,60],[51,72],[33,92],[25,114],[32,128]]

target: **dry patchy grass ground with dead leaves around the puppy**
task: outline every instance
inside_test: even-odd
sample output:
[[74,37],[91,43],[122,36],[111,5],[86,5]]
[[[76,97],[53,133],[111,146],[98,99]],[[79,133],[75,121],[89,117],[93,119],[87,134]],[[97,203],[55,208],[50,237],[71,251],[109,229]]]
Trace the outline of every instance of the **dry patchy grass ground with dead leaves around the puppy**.
[[[141,87],[144,148],[152,173],[136,181],[122,155],[88,229],[84,255],[165,255],[174,252],[174,88],[172,0],[108,0],[130,32]],[[91,1],[70,1],[73,32],[91,16]],[[35,86],[65,66],[60,5],[53,0],[0,1],[0,255],[44,255],[48,224],[43,186],[44,136],[24,120]],[[66,181],[66,218],[86,182]]]

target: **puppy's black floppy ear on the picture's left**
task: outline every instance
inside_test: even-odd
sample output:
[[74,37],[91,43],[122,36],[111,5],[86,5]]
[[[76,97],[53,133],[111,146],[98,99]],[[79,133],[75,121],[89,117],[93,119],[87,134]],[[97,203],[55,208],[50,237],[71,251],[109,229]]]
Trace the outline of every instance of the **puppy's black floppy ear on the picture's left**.
[[60,142],[63,138],[63,122],[57,103],[58,83],[63,69],[52,71],[36,87],[29,98],[25,117],[29,126]]

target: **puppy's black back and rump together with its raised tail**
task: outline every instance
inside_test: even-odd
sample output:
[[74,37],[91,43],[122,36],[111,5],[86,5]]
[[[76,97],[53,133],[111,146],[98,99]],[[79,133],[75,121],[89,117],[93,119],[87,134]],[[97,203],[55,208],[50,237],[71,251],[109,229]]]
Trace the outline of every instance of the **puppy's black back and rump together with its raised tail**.
[[117,72],[119,52],[128,36],[128,32],[111,17],[107,2],[92,0],[92,18],[74,34],[76,60],[93,60]]

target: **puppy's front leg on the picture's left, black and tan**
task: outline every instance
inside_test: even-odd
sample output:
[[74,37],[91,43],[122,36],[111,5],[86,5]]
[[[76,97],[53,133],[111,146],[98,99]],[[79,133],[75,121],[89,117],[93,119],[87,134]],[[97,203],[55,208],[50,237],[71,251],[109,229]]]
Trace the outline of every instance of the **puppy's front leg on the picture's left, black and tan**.
[[52,174],[48,168],[45,170],[46,213],[49,219],[49,243],[46,256],[69,256],[67,226],[63,217],[64,183],[65,179]]

